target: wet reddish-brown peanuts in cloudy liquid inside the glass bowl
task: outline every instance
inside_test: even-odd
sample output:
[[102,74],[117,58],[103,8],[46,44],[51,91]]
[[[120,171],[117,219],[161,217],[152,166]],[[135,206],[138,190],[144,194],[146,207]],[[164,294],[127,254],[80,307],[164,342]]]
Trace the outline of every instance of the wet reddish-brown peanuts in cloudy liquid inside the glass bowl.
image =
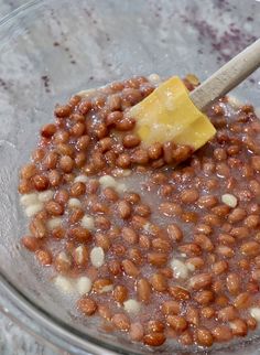
[[246,336],[260,321],[260,121],[223,98],[199,151],[144,148],[127,114],[154,87],[134,77],[56,106],[21,169],[21,241],[82,314],[133,342]]

